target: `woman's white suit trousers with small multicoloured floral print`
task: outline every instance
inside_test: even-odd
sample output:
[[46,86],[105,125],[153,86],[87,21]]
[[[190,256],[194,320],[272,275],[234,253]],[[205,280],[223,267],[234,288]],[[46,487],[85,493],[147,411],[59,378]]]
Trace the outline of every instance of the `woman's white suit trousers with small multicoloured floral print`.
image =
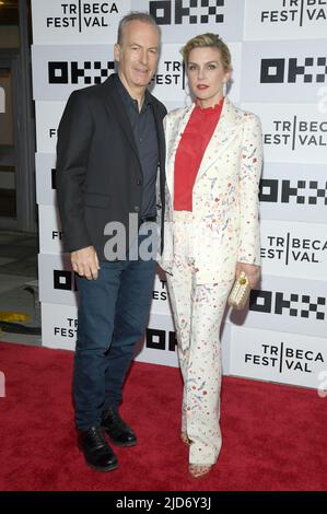
[[191,212],[175,212],[174,265],[167,276],[184,379],[182,431],[191,440],[189,462],[214,464],[222,444],[220,326],[233,281],[197,283],[194,248],[200,244]]

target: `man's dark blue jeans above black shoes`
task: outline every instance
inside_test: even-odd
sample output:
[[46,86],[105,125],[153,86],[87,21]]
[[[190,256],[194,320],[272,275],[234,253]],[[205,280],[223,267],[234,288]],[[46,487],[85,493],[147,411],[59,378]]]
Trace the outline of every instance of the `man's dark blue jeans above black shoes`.
[[73,399],[79,430],[100,427],[108,407],[121,401],[136,343],[147,328],[153,291],[152,259],[102,261],[100,266],[97,280],[77,276],[80,304]]

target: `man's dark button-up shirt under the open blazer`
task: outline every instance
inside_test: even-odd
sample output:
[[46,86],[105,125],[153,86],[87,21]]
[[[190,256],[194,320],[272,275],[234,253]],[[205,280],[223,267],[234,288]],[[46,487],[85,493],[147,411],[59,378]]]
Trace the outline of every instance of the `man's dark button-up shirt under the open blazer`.
[[115,74],[115,83],[119,90],[127,116],[130,120],[143,172],[141,217],[155,215],[159,141],[151,96],[145,90],[144,102],[141,112],[139,112],[138,101],[130,96],[118,74]]

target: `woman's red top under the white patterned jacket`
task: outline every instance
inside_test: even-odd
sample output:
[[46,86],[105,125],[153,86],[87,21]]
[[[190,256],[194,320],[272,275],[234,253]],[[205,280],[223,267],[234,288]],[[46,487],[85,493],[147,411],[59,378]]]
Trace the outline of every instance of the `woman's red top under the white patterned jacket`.
[[182,135],[174,173],[174,210],[192,210],[192,188],[205,151],[219,121],[224,98],[213,107],[196,106]]

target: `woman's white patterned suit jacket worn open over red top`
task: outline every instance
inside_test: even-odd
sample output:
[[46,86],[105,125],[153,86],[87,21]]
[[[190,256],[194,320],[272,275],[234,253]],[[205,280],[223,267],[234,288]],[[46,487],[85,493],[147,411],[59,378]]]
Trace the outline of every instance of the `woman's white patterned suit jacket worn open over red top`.
[[[174,260],[174,165],[182,133],[195,107],[164,119],[166,136],[165,244],[160,264]],[[260,120],[226,97],[192,189],[194,255],[198,283],[231,280],[236,261],[260,265],[258,186],[262,164]]]

